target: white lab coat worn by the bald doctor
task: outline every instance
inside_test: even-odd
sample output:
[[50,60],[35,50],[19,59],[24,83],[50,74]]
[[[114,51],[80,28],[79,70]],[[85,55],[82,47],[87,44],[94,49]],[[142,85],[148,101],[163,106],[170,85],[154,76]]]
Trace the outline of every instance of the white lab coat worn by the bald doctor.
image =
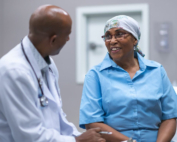
[[[33,58],[28,37],[23,46],[37,76],[41,71]],[[58,96],[58,71],[51,59],[50,68],[55,76]],[[37,79],[27,62],[21,45],[18,44],[0,59],[0,142],[75,142],[79,135],[76,127],[69,123],[62,110],[61,101],[56,101],[43,83],[44,95],[49,100],[47,107],[41,107]],[[59,100],[59,99],[58,99]]]

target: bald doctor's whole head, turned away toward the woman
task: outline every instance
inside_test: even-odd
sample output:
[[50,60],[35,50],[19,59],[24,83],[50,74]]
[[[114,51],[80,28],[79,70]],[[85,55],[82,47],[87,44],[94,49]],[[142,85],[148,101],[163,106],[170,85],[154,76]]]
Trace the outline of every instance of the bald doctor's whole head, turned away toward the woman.
[[56,55],[69,40],[71,25],[66,11],[43,5],[31,15],[28,37],[43,57]]

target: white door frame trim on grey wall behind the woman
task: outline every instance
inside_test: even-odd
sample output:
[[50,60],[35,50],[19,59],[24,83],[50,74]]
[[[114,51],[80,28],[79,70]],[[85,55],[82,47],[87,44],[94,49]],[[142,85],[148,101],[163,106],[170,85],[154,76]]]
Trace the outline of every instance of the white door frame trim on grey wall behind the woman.
[[[144,53],[149,58],[149,6],[148,4],[125,4],[78,7],[76,9],[76,82],[83,83],[87,73],[87,16],[104,13],[141,12],[143,21]],[[106,22],[106,21],[105,21]]]

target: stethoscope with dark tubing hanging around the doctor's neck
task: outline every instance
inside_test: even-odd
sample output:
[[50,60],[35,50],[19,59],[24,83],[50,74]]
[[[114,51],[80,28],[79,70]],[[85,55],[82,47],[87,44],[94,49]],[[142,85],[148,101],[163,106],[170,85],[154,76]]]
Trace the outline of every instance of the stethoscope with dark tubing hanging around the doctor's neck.
[[36,72],[35,72],[33,66],[31,65],[31,62],[29,61],[29,59],[28,59],[28,57],[27,57],[27,55],[26,55],[26,53],[25,53],[25,50],[24,50],[22,41],[21,41],[21,47],[22,47],[23,54],[25,55],[26,60],[27,60],[28,63],[30,64],[30,66],[31,66],[31,68],[32,68],[32,70],[33,70],[33,72],[34,72],[34,74],[35,74],[35,76],[36,76],[36,79],[37,79],[37,81],[38,81],[38,84],[39,84],[39,88],[40,88],[40,90],[41,90],[41,94],[38,95],[38,98],[39,98],[39,100],[40,100],[40,104],[41,104],[42,107],[46,107],[46,106],[48,106],[48,103],[49,103],[49,102],[48,102],[48,98],[44,96],[44,92],[43,92],[43,89],[42,89],[43,81],[42,81],[40,78],[37,77],[37,74],[36,74]]

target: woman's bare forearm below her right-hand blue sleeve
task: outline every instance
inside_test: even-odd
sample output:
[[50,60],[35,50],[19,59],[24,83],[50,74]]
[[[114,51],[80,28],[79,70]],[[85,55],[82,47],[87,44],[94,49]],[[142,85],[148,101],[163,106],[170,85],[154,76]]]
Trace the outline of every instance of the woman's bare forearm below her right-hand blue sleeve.
[[176,119],[164,120],[159,128],[157,142],[170,142],[176,132]]

